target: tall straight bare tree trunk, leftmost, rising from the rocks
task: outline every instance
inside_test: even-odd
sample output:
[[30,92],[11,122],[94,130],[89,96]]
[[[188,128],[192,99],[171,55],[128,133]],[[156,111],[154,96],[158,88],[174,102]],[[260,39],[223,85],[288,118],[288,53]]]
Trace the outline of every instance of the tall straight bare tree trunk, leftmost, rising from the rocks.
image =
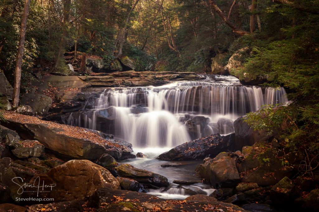
[[23,16],[21,21],[20,29],[20,41],[19,50],[17,55],[16,68],[14,70],[14,90],[12,96],[12,105],[17,107],[19,105],[19,95],[20,95],[20,82],[21,82],[21,64],[23,57],[24,41],[26,38],[26,21],[29,15],[30,0],[25,0]]

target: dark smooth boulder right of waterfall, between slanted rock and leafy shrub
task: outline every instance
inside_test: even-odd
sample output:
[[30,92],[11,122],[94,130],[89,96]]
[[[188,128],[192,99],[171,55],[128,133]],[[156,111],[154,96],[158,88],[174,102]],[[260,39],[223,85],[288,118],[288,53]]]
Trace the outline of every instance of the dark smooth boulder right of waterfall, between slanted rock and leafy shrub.
[[269,134],[266,130],[254,130],[244,119],[245,116],[242,116],[234,121],[236,149],[252,146],[257,141],[271,140],[273,134]]

